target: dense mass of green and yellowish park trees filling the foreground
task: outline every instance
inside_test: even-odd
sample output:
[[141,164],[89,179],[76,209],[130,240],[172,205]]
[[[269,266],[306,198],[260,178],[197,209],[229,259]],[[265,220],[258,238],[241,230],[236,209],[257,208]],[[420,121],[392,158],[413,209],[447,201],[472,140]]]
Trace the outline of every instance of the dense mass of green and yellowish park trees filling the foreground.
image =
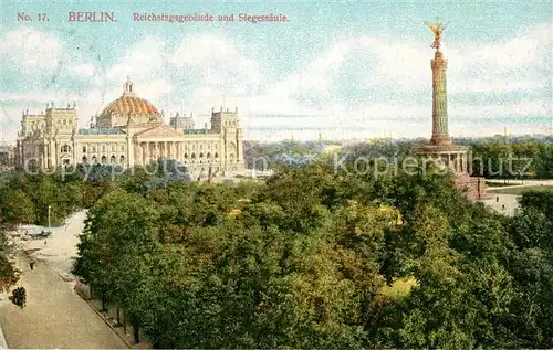
[[[383,152],[407,153],[351,149]],[[551,192],[505,218],[449,174],[359,173],[354,156],[234,184],[17,173],[0,218],[90,209],[73,273],[157,348],[553,347]]]

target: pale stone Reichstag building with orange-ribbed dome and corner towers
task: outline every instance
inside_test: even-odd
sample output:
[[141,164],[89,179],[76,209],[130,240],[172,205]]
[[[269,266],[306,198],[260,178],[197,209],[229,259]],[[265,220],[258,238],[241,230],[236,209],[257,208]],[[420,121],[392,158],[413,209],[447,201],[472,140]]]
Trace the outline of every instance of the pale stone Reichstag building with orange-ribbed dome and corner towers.
[[17,141],[21,167],[51,169],[79,163],[147,166],[158,159],[185,165],[194,177],[243,170],[242,129],[238,109],[211,110],[211,126],[194,128],[190,117],[170,118],[134,92],[131,81],[123,94],[104,107],[90,128],[77,128],[75,105],[48,105],[39,115],[23,113]]

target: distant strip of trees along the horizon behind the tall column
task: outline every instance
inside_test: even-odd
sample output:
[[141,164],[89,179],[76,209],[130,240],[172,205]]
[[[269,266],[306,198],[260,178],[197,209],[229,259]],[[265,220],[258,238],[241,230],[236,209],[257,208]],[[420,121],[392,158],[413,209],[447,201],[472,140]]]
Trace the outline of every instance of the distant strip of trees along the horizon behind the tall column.
[[[428,144],[425,139],[373,140],[365,145],[342,145],[341,155],[352,150],[371,150],[373,156],[394,157],[405,153],[409,146]],[[477,138],[456,139],[456,144],[470,147],[470,165],[473,176],[487,179],[553,179],[553,137],[533,138]],[[304,167],[333,150],[336,144],[327,141],[275,144],[247,142],[244,158],[249,168],[257,169]]]

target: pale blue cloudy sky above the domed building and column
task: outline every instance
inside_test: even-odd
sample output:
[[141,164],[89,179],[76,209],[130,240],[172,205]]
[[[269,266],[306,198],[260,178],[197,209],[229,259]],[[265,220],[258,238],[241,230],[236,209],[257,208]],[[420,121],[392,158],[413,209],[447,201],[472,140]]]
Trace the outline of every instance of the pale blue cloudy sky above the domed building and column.
[[[429,138],[434,34],[422,21],[436,17],[447,24],[452,136],[553,132],[550,1],[4,0],[0,10],[0,141],[17,138],[22,110],[52,102],[75,102],[87,126],[127,76],[167,120],[194,113],[204,127],[212,107],[238,107],[246,139]],[[116,22],[70,22],[77,11],[113,12]],[[288,21],[240,22],[240,13]],[[217,21],[223,14],[234,21]]]

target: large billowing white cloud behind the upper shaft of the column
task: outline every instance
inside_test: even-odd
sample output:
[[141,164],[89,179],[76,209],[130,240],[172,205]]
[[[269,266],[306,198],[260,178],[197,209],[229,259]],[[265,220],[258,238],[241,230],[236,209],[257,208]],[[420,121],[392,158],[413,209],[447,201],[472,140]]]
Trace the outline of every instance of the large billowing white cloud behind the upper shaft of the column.
[[[451,43],[444,49],[449,94],[481,93],[486,104],[486,94],[540,92],[550,84],[543,70],[553,50],[551,31],[552,24],[545,23],[500,43]],[[279,113],[285,113],[286,106],[289,113],[324,112],[336,104],[343,110],[366,104],[404,106],[428,98],[432,52],[408,38],[345,39],[275,83],[258,97],[263,102],[259,105],[278,99]]]

